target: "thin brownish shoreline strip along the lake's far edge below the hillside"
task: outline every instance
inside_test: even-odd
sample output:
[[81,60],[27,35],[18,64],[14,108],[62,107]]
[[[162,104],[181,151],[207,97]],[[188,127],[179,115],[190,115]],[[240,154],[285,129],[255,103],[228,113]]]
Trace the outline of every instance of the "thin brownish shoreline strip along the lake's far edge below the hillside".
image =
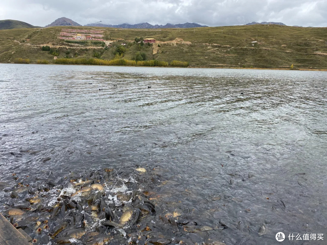
[[[0,64],[20,64],[20,63],[2,63]],[[116,65],[87,65],[87,64],[37,64],[37,63],[29,63],[23,65],[76,65],[76,66],[116,66]],[[124,65],[122,65],[124,66]],[[176,67],[176,66],[125,66],[125,67],[163,67],[163,68],[206,68],[206,69],[245,69],[245,70],[284,70],[284,71],[318,71],[318,72],[327,72],[327,68],[325,69],[310,69],[310,68],[259,68],[259,67],[207,67],[207,66],[198,66],[198,67]]]

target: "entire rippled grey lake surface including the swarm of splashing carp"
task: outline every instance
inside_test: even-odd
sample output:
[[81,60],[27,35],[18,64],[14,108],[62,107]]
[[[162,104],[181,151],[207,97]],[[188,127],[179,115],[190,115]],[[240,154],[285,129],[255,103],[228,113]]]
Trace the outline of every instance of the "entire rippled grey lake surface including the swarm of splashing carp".
[[0,64],[0,212],[32,244],[326,244],[288,239],[326,233],[326,81]]

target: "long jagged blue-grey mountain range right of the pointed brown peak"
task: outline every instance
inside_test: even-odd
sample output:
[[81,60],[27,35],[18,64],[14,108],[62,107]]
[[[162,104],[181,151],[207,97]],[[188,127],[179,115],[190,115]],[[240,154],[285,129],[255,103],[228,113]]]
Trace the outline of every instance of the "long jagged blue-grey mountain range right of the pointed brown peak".
[[159,28],[194,28],[194,27],[207,27],[207,25],[200,25],[197,23],[184,23],[184,24],[170,24],[167,23],[165,25],[152,25],[147,22],[139,23],[139,24],[103,24],[102,21],[86,24],[84,26],[100,26],[100,27],[113,27],[113,28],[128,28],[128,29],[159,29]]

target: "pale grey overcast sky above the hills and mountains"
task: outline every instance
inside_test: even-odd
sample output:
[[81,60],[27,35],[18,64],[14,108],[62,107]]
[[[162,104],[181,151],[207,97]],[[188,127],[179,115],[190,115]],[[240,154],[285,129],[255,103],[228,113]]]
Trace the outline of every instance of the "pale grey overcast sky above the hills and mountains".
[[327,0],[0,0],[0,20],[45,26],[67,17],[84,25],[179,24],[240,25],[252,21],[327,26]]

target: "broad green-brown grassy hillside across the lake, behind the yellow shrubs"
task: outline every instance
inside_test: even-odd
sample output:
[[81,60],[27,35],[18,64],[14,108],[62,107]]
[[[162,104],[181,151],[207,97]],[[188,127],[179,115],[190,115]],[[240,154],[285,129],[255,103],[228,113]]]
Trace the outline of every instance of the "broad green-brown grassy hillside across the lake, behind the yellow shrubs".
[[[115,47],[74,46],[58,39],[62,27],[42,29],[0,30],[0,62],[14,58],[53,61],[52,55],[42,51],[43,45],[59,50],[58,57],[93,57],[96,48],[102,59],[112,59]],[[128,43],[124,58],[131,59],[136,52],[146,53],[147,59],[167,62],[188,61],[191,67],[246,67],[327,69],[327,28],[291,27],[281,25],[248,25],[224,27],[199,27],[188,29],[101,29],[119,46]],[[28,37],[28,41],[25,41]],[[152,47],[134,44],[135,37],[155,38]],[[23,42],[25,41],[25,42]],[[256,42],[255,42],[256,41]],[[158,46],[159,44],[159,46]]]

